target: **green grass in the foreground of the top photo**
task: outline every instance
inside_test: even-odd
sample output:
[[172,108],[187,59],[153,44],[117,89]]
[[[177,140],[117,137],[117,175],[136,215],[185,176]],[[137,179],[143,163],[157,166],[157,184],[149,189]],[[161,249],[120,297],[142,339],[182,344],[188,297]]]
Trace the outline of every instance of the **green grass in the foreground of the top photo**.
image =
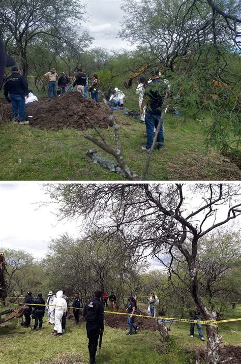
[[[137,104],[138,105],[138,104]],[[127,108],[137,108],[132,101]],[[123,155],[127,165],[141,175],[146,160],[145,126],[138,118],[115,112],[120,126]],[[236,164],[203,146],[202,123],[184,121],[182,114],[166,115],[165,147],[155,150],[147,174],[149,180],[237,180],[240,171]],[[120,176],[93,165],[86,151],[93,143],[85,134],[97,135],[94,130],[81,132],[64,129],[57,132],[37,130],[9,122],[0,126],[0,162],[2,180],[119,180]],[[112,128],[102,130],[113,142]],[[98,149],[98,148],[97,148]],[[103,155],[107,157],[107,154]],[[109,157],[108,157],[109,158]],[[18,161],[21,160],[21,163]]]

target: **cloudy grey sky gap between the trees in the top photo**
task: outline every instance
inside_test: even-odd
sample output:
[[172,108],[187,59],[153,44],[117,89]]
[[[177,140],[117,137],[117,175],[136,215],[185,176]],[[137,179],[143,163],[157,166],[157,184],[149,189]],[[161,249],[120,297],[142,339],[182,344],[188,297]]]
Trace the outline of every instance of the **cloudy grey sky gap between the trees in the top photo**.
[[125,14],[120,10],[122,0],[83,0],[83,3],[87,4],[88,14],[88,22],[83,23],[83,28],[95,38],[93,47],[131,48],[130,43],[116,38],[120,30],[119,21]]

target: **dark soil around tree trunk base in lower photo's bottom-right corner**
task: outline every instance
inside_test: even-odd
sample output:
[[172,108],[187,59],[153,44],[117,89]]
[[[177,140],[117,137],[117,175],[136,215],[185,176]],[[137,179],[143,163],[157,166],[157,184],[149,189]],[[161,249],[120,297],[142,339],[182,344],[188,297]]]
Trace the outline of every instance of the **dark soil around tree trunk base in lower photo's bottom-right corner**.
[[[196,349],[196,359],[198,362],[206,362],[206,350]],[[221,362],[230,362],[232,364],[240,364],[241,362],[241,346],[225,345],[220,347]]]

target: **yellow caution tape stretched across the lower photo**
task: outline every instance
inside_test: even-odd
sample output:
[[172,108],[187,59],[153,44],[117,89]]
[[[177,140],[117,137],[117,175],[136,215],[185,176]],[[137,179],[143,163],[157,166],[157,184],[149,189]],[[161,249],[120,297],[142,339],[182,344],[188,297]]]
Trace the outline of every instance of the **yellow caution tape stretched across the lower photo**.
[[[0,302],[4,302],[1,301]],[[9,302],[9,301],[5,301],[5,302]],[[9,302],[12,305],[15,306],[19,306],[17,304],[13,304],[12,302]],[[46,305],[46,304],[26,304],[26,306],[46,306],[46,307],[65,307],[65,306],[56,306],[56,305]],[[82,308],[75,308],[75,307],[71,307],[71,306],[67,306],[68,309],[75,309],[75,310],[83,310]],[[129,313],[125,313],[125,312],[116,312],[116,311],[104,311],[104,313],[106,314],[112,314],[112,315],[124,315],[124,316],[130,316],[131,314]],[[150,318],[150,319],[155,319],[155,320],[166,320],[166,321],[177,321],[177,322],[189,322],[189,323],[200,323],[202,325],[213,325],[213,326],[218,326],[218,324],[223,323],[223,322],[233,322],[233,321],[241,321],[241,318],[236,318],[236,319],[228,319],[228,320],[220,320],[220,321],[216,321],[216,320],[191,320],[191,319],[180,319],[180,318],[173,318],[173,317],[161,317],[161,316],[148,316],[148,315],[138,315],[138,314],[133,314],[132,316],[136,316],[136,317],[145,317],[145,318]]]

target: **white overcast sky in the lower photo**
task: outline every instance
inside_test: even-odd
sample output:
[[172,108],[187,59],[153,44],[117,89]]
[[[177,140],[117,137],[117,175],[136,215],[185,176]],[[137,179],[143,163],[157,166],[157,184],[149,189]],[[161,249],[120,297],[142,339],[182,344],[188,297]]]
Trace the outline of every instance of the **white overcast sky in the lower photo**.
[[[64,233],[81,236],[81,220],[59,222],[54,214],[56,204],[39,206],[39,202],[49,201],[41,183],[2,183],[0,201],[0,248],[22,249],[40,259],[47,253],[52,238]],[[191,209],[199,206],[200,200],[196,198],[192,204]],[[226,207],[220,206],[218,217],[223,219],[226,213]],[[162,265],[152,260],[152,268],[157,267]]]

